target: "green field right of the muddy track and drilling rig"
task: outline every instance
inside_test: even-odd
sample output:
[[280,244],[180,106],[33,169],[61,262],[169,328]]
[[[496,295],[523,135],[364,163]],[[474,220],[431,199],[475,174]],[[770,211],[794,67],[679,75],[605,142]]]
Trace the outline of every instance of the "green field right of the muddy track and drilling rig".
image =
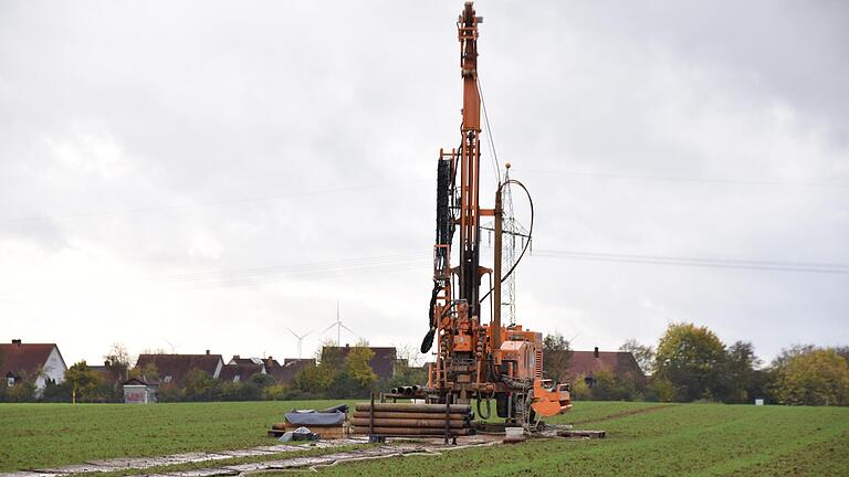
[[608,437],[357,462],[321,474],[849,476],[847,407],[598,402],[575,406],[576,412],[551,421],[605,430]]

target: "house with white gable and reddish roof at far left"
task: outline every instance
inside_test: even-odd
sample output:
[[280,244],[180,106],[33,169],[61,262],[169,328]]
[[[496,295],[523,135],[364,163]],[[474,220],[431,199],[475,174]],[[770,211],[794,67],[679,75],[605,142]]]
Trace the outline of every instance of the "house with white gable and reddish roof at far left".
[[0,375],[7,386],[27,378],[34,378],[35,392],[41,394],[49,381],[59,384],[65,380],[65,360],[55,343],[24,343],[13,339],[0,344]]

